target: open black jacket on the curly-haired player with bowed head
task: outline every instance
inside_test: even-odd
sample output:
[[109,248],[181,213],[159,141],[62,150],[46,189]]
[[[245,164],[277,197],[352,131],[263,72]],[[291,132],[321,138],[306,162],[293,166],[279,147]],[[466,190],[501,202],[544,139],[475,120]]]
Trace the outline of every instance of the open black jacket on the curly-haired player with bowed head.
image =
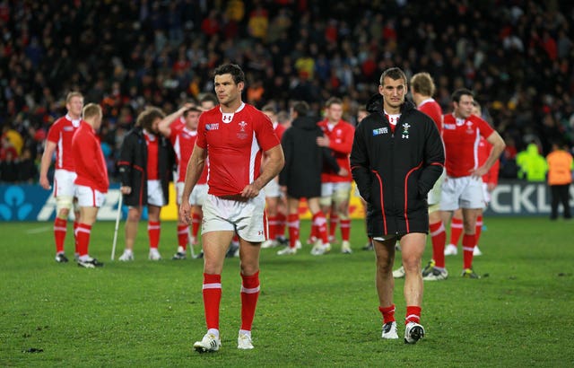
[[[158,142],[158,174],[165,203],[170,202],[170,181],[172,178],[175,153],[170,142],[161,134],[155,135]],[[131,187],[132,191],[124,195],[126,206],[147,206],[147,145],[141,127],[127,132],[119,151],[117,161],[121,185]]]

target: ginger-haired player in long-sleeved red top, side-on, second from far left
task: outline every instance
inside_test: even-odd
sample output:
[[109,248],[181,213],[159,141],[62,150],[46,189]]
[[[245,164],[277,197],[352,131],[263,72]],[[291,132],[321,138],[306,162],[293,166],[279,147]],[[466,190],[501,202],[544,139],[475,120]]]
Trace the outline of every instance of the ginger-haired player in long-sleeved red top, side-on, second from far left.
[[106,161],[101,151],[100,138],[96,131],[101,126],[100,105],[88,103],[83,108],[83,121],[72,138],[72,154],[76,178],[75,197],[78,198],[80,218],[75,230],[78,248],[78,266],[84,268],[102,267],[104,264],[88,254],[91,227],[96,222],[98,209],[108,193],[109,179]]

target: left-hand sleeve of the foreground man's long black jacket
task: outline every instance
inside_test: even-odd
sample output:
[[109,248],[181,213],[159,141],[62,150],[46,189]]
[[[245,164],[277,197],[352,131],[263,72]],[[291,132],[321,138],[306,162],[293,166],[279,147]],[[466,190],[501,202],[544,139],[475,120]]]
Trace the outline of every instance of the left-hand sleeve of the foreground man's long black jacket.
[[354,139],[352,141],[351,150],[351,172],[352,179],[357,183],[359,194],[361,197],[369,202],[370,201],[370,159],[367,150],[367,144],[364,139],[364,127],[366,121],[362,122],[357,129],[355,129]]

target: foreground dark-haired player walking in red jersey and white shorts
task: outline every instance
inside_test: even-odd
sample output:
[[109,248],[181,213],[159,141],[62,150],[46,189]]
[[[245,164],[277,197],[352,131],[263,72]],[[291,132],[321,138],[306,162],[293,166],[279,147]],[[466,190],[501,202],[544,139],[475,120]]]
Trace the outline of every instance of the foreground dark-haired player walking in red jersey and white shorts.
[[[241,100],[245,74],[234,64],[214,71],[220,105],[199,118],[196,146],[187,165],[179,209],[190,222],[189,195],[209,154],[208,196],[204,202],[202,246],[204,250],[204,311],[207,333],[194,348],[214,352],[222,346],[219,311],[222,270],[233,233],[239,235],[241,271],[241,327],[238,348],[252,349],[251,325],[259,296],[259,251],[265,241],[265,184],[284,164],[283,150],[271,120]],[[261,157],[266,162],[261,167]]]

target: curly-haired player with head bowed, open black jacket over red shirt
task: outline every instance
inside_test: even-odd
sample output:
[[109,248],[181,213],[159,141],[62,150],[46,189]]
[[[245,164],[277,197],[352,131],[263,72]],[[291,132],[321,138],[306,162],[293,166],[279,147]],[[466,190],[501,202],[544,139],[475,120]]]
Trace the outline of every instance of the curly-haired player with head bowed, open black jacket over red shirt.
[[135,127],[127,132],[122,143],[119,160],[124,205],[128,206],[126,220],[126,249],[121,261],[134,260],[134,244],[137,227],[147,206],[150,241],[150,260],[160,260],[160,213],[169,202],[169,184],[174,163],[173,149],[158,126],[165,117],[158,108],[143,110],[135,121]]

